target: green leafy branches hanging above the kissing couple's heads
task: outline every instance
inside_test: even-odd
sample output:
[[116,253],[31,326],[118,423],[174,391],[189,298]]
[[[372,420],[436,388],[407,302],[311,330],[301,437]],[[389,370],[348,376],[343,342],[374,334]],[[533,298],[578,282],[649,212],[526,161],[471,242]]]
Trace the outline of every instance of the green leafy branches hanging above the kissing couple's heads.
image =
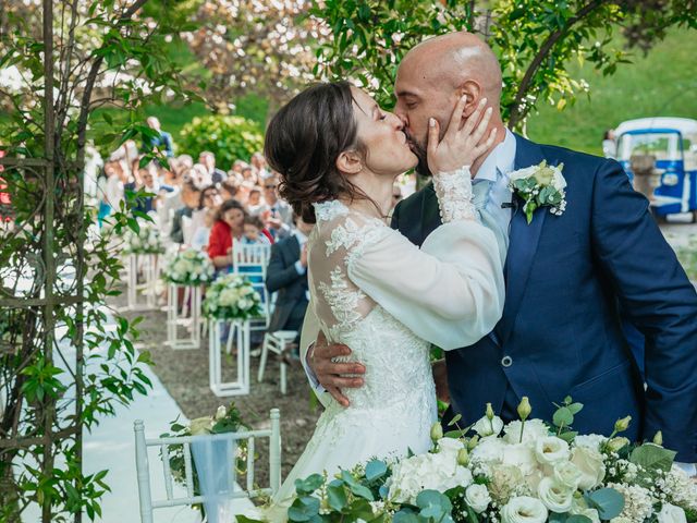
[[[406,50],[426,36],[478,25],[502,64],[503,117],[511,127],[522,127],[539,100],[561,109],[588,92],[586,82],[570,74],[572,63],[588,63],[603,75],[627,63],[628,54],[612,38],[616,29],[636,35],[640,28],[631,41],[648,49],[665,36],[667,27],[697,26],[689,0],[653,3],[660,5],[644,9],[632,0],[325,2],[314,13],[335,37],[318,50],[316,72],[328,78],[357,78],[390,108],[396,64]],[[401,14],[405,12],[409,16]]]

